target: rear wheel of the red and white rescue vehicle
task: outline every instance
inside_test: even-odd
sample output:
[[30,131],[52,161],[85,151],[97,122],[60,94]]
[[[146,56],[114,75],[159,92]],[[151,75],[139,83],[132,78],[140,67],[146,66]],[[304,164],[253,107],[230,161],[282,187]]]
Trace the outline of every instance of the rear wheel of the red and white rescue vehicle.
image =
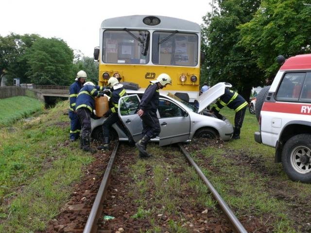
[[282,164],[293,181],[311,183],[311,134],[295,135],[285,143]]

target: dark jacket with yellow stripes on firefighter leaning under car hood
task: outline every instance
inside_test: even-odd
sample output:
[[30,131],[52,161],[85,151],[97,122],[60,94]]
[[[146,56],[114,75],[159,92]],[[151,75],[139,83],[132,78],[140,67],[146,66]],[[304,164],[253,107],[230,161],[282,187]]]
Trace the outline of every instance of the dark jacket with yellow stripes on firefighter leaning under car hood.
[[217,99],[213,111],[218,113],[225,106],[238,112],[247,106],[247,102],[238,92],[225,89],[225,94]]

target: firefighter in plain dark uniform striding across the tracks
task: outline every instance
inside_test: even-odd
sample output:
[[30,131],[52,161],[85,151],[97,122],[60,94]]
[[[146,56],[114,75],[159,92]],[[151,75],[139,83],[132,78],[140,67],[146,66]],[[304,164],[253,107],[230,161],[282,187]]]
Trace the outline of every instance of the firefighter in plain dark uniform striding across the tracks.
[[146,147],[150,139],[159,136],[161,128],[156,116],[156,110],[159,106],[159,89],[165,88],[167,84],[172,85],[170,75],[161,73],[156,80],[150,81],[150,85],[145,90],[141,98],[137,114],[142,120],[142,138],[135,144],[139,150],[140,158],[151,157],[147,153]]

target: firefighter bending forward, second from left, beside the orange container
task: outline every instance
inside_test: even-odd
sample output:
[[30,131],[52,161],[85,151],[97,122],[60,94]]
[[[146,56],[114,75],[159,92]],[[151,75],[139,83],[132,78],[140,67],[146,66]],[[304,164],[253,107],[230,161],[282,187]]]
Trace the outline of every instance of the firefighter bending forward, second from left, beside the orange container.
[[104,93],[99,92],[99,90],[103,89],[104,87],[95,86],[92,82],[86,82],[76,99],[76,111],[82,125],[80,148],[85,151],[95,152],[90,147],[91,115],[95,106],[95,97],[103,96]]

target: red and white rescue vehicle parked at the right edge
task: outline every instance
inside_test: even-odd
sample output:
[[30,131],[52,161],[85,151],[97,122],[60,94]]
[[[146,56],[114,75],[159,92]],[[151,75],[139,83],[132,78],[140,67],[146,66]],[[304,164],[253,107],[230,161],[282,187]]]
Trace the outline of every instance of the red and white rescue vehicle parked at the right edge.
[[311,183],[311,54],[282,64],[265,96],[255,141],[276,148],[275,161],[290,179]]

